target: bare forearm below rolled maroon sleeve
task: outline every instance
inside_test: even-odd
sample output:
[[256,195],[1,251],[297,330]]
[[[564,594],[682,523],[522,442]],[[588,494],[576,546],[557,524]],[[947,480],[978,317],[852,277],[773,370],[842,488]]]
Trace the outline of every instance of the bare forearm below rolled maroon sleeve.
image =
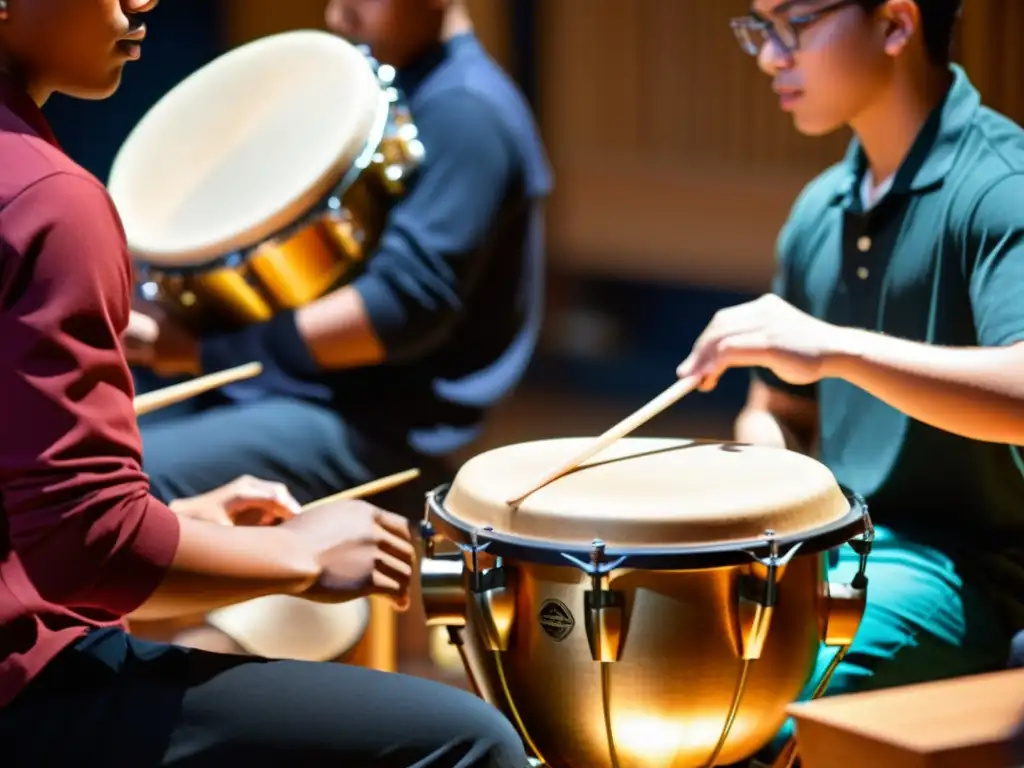
[[316,557],[283,528],[179,519],[174,560],[132,618],[174,618],[264,595],[297,595],[319,574]]

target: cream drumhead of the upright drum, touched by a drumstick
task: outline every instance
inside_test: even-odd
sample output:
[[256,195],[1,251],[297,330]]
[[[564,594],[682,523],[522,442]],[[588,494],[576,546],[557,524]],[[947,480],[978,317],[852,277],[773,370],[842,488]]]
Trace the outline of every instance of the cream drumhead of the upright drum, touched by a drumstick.
[[540,440],[476,456],[456,475],[444,509],[476,528],[609,547],[800,535],[850,511],[828,468],[802,454],[647,437],[622,439],[518,507],[506,504],[589,444]]

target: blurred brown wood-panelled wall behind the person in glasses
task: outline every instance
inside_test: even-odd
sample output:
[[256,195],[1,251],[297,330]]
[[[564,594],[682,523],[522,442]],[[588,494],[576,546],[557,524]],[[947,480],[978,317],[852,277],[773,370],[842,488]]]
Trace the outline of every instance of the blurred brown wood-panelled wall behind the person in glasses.
[[[541,3],[540,118],[557,174],[553,263],[768,285],[794,197],[849,135],[807,138],[728,27],[749,0]],[[1021,0],[968,0],[962,49],[987,100],[1024,117]]]

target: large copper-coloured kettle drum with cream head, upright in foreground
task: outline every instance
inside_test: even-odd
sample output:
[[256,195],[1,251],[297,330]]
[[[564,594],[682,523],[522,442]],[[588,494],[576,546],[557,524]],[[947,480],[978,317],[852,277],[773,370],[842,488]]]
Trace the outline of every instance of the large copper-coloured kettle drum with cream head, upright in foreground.
[[[527,497],[589,441],[513,444],[427,500],[427,621],[551,768],[746,759],[863,611],[863,502],[784,450],[631,437]],[[440,555],[443,540],[457,545]],[[861,553],[851,585],[826,553]]]

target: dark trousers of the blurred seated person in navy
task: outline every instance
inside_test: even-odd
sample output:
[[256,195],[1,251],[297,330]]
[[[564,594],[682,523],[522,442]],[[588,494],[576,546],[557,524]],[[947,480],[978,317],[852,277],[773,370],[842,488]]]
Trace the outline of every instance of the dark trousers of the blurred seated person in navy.
[[[136,390],[167,386],[135,372]],[[418,481],[374,498],[409,516],[423,511],[424,495],[445,479],[439,460],[388,442],[346,422],[334,410],[293,397],[236,403],[219,392],[139,419],[142,463],[162,501],[198,496],[242,475],[285,483],[300,504],[419,468]]]

